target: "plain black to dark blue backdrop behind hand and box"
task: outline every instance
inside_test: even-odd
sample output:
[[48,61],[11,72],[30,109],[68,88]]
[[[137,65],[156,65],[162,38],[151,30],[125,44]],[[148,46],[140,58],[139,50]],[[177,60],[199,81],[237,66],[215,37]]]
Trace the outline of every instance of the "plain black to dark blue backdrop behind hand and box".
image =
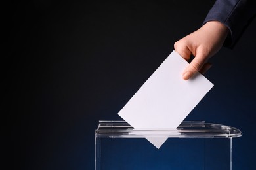
[[[6,158],[16,169],[94,169],[98,120],[117,113],[214,1],[18,1],[2,62]],[[211,58],[215,86],[186,120],[240,129],[234,169],[255,165],[256,21]],[[6,116],[6,118],[5,118]],[[10,137],[11,135],[11,137]]]

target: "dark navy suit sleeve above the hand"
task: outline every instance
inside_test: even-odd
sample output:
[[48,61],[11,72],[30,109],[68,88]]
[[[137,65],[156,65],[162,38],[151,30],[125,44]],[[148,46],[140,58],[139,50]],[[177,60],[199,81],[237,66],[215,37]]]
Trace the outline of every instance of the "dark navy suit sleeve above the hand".
[[215,20],[226,25],[230,34],[226,38],[224,46],[232,48],[255,14],[255,0],[217,0],[203,24]]

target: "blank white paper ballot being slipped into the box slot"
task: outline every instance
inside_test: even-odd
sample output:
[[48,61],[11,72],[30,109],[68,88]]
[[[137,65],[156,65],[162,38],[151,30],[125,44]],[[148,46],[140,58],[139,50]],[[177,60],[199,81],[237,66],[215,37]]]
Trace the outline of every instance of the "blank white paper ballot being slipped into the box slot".
[[[118,113],[135,129],[176,129],[213,84],[197,73],[182,79],[188,62],[173,51]],[[146,138],[154,146],[163,138]]]

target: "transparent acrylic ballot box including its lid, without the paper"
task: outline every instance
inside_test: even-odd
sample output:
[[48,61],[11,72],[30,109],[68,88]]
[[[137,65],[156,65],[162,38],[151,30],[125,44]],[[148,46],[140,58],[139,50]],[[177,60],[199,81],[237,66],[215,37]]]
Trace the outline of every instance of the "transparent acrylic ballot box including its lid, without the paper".
[[[182,122],[177,129],[133,129],[125,121],[99,121],[95,170],[232,169],[232,138],[239,129],[206,122]],[[168,137],[160,149],[146,137]]]

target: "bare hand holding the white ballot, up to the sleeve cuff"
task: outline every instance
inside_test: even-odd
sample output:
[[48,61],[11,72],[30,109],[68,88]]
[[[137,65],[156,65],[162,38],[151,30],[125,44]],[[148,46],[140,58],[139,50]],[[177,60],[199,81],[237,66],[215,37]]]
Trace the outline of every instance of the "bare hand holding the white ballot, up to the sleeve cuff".
[[211,21],[194,33],[175,42],[175,51],[186,61],[190,59],[191,55],[195,56],[182,74],[184,80],[188,80],[198,71],[205,73],[211,67],[207,60],[223,46],[228,31],[228,27],[221,22]]

